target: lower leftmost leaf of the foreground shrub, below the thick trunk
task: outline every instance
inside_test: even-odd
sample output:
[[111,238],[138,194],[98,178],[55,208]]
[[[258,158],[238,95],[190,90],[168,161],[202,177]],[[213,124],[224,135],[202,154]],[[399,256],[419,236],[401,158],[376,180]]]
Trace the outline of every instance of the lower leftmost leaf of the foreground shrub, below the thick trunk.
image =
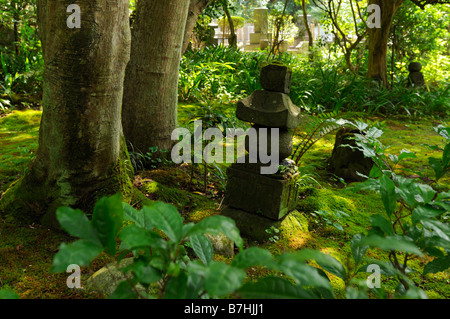
[[65,272],[69,265],[86,266],[91,263],[103,248],[91,241],[80,239],[73,243],[62,243],[53,258],[51,272]]

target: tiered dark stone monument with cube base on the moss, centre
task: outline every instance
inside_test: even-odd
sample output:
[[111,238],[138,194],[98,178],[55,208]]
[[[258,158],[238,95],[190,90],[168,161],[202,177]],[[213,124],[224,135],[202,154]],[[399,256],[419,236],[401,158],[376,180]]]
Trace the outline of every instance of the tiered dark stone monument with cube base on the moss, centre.
[[[292,160],[286,159],[293,149],[289,130],[300,122],[300,109],[288,96],[291,76],[289,67],[269,64],[261,70],[263,90],[257,90],[237,103],[237,118],[253,123],[258,141],[252,145],[248,138],[245,160],[238,160],[227,170],[226,208],[222,214],[234,219],[241,233],[254,240],[264,240],[265,230],[283,220],[297,203],[297,167]],[[274,144],[271,143],[272,128],[278,131],[275,136],[278,140]],[[261,143],[261,132],[268,132],[268,143]],[[277,148],[272,149],[273,145]],[[252,146],[256,146],[258,152],[250,152]],[[262,173],[265,163],[259,158],[261,147],[267,147],[263,151],[270,154],[277,152],[279,166],[275,173]]]

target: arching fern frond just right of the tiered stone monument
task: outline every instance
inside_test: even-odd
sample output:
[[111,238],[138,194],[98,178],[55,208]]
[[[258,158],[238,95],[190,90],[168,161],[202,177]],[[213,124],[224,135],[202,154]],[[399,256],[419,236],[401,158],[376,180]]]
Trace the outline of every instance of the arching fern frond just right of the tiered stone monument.
[[301,124],[296,128],[294,135],[300,138],[292,159],[298,166],[302,156],[322,137],[341,127],[342,122],[336,120],[336,111],[321,113],[319,115],[306,115],[302,118]]

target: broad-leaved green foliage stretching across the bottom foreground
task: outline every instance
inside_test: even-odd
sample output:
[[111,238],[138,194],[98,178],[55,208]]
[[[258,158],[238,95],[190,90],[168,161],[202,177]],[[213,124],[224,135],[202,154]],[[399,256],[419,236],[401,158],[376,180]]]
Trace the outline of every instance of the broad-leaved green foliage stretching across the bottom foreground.
[[[426,205],[437,202],[438,198],[429,199],[430,189],[422,187],[421,190]],[[58,209],[57,218],[61,226],[80,239],[61,244],[53,260],[52,272],[63,272],[70,264],[88,265],[101,252],[106,252],[117,262],[132,254],[132,263],[120,269],[130,275],[129,279],[120,282],[110,298],[193,299],[223,298],[229,295],[242,298],[335,298],[328,273],[345,283],[348,297],[367,298],[368,287],[355,280],[355,277],[358,273],[369,271],[368,265],[364,264],[367,262],[365,254],[369,247],[388,250],[392,254],[401,250],[405,258],[412,254],[421,255],[426,250],[437,259],[425,267],[425,273],[448,268],[448,254],[444,254],[448,244],[444,245],[444,251],[436,249],[436,246],[447,243],[448,238],[442,235],[448,234],[447,229],[430,217],[429,210],[424,214],[413,213],[415,224],[412,227],[415,228],[412,235],[395,233],[398,226],[395,223],[392,226],[392,220],[374,217],[373,229],[369,234],[358,234],[352,240],[351,256],[354,262],[350,266],[331,255],[310,249],[278,256],[259,247],[244,249],[239,230],[234,221],[227,217],[215,215],[197,224],[185,224],[172,205],[155,202],[138,211],[122,203],[116,195],[102,198],[96,204],[92,221],[78,210],[67,207]],[[422,237],[417,233],[420,232],[418,223],[424,226]],[[119,225],[122,225],[120,229]],[[428,227],[439,230],[441,236],[439,232],[432,235],[426,233],[425,228]],[[387,232],[386,236],[380,232],[383,230]],[[235,243],[239,253],[231,263],[215,260],[206,233],[222,233]],[[119,247],[117,253],[115,247],[112,248],[113,238]],[[419,244],[415,242],[416,239]],[[315,261],[320,268],[311,266],[311,261]],[[401,282],[410,284],[404,269],[395,264],[371,263],[379,264],[383,273],[399,276]],[[272,275],[256,282],[248,281],[246,270],[251,267],[265,267],[272,271]],[[138,285],[144,289],[138,289]],[[425,297],[412,286],[408,286],[407,290],[407,293],[402,292],[399,296]],[[387,295],[376,291],[376,296]]]

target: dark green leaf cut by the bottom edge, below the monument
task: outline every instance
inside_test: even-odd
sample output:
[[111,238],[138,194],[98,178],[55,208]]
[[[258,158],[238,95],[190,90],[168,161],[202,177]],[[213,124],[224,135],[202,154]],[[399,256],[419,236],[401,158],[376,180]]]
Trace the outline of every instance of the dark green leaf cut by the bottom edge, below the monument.
[[238,291],[244,299],[315,299],[311,291],[280,277],[265,277],[256,283],[246,283]]

